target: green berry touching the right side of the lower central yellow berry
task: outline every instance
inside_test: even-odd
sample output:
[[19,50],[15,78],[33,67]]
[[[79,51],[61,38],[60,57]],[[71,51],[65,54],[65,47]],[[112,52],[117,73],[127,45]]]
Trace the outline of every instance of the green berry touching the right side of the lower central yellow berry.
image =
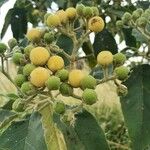
[[91,75],[87,75],[81,80],[82,89],[86,89],[86,88],[94,89],[95,87],[96,87],[96,79]]

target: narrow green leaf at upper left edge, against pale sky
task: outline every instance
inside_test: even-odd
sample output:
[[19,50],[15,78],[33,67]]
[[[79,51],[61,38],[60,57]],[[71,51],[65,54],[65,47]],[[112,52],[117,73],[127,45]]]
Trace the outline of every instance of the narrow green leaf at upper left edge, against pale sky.
[[13,13],[14,9],[9,9],[9,11],[7,12],[6,14],[6,17],[5,17],[5,22],[4,22],[4,25],[3,25],[3,28],[2,28],[2,31],[1,31],[1,38],[4,37],[6,31],[7,31],[7,28],[8,26],[10,25],[10,21],[11,21],[11,15]]

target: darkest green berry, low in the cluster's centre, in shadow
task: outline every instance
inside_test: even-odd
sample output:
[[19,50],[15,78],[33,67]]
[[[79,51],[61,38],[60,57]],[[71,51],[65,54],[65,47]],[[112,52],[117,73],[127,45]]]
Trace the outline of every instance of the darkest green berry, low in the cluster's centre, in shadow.
[[59,91],[63,96],[71,96],[73,94],[73,88],[67,83],[62,83]]

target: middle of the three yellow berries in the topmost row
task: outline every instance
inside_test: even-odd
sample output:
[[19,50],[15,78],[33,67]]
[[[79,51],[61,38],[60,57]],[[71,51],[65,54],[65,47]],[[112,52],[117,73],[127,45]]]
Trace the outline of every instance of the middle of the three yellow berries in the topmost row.
[[67,23],[68,16],[67,16],[67,13],[64,10],[58,10],[56,12],[56,15],[59,17],[61,23],[64,23],[64,24]]

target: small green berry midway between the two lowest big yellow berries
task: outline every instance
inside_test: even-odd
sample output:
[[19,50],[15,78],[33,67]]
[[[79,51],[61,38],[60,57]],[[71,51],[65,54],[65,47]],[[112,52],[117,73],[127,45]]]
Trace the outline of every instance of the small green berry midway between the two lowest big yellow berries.
[[61,69],[56,72],[56,76],[58,76],[61,81],[66,81],[68,80],[69,72],[66,69]]

